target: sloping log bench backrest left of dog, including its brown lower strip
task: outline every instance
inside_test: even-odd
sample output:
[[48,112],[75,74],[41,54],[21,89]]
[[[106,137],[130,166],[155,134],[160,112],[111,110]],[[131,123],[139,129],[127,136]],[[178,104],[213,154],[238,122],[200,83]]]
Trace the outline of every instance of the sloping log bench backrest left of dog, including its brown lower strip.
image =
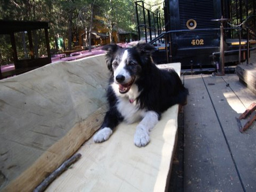
[[0,190],[33,190],[98,129],[105,68],[101,55],[0,81]]

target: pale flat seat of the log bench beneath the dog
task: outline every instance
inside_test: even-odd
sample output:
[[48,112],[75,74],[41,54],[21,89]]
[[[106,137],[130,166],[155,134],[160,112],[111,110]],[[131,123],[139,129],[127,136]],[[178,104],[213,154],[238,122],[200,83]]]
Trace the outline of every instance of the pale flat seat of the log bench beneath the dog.
[[[180,72],[180,63],[169,64]],[[133,144],[138,123],[120,124],[103,143],[89,139],[77,163],[46,191],[165,191],[177,139],[178,105],[162,114],[145,147]]]

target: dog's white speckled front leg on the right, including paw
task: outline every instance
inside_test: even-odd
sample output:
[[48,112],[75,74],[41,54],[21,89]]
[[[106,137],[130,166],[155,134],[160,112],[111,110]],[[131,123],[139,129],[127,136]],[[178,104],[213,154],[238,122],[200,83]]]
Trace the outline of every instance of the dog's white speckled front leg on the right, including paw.
[[158,123],[159,115],[154,111],[146,112],[143,120],[137,125],[134,144],[138,147],[146,146],[150,142],[150,130]]

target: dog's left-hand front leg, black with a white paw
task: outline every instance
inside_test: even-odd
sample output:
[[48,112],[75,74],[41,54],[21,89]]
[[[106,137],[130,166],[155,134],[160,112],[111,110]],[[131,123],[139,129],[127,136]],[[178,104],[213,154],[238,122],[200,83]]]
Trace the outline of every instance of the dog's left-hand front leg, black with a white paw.
[[115,109],[106,112],[101,128],[94,135],[94,142],[101,143],[108,140],[113,133],[113,129],[118,125],[119,121],[122,120],[120,118],[119,112]]

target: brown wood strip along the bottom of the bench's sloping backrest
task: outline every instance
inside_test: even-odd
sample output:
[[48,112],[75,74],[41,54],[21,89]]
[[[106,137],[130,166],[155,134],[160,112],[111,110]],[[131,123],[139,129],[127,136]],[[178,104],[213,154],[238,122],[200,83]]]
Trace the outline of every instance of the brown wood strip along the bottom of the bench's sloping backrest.
[[103,106],[92,113],[87,120],[75,124],[63,138],[49,147],[34,164],[20,174],[17,179],[11,181],[4,188],[4,191],[11,192],[19,189],[19,191],[26,192],[36,188],[49,173],[52,173],[63,161],[70,158],[94,134],[103,121],[105,111],[106,106]]

